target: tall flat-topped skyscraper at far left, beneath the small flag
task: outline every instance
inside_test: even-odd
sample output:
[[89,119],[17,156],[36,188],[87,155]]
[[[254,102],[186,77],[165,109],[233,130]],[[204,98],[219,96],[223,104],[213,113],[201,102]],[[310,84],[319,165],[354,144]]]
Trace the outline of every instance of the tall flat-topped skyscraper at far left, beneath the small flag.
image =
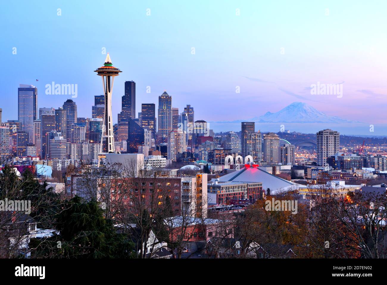
[[18,120],[20,129],[28,131],[29,142],[34,138],[34,120],[38,118],[38,88],[33,85],[20,84],[17,89]]

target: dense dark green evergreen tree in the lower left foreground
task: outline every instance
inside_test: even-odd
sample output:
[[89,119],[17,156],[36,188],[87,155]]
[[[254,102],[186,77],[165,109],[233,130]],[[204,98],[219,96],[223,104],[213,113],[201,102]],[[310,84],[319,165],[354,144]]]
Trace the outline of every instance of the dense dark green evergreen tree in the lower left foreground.
[[105,219],[95,201],[84,202],[75,196],[63,205],[55,216],[57,232],[41,242],[32,239],[33,257],[38,258],[128,258],[133,256],[134,244],[117,233],[113,221]]

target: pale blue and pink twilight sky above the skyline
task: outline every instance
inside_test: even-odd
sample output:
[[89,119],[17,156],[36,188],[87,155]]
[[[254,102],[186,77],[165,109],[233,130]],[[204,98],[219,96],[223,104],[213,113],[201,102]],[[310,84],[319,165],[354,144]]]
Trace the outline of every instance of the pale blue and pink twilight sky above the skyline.
[[[375,135],[385,135],[386,10],[387,1],[7,1],[3,121],[17,119],[20,83],[38,87],[39,107],[61,107],[71,96],[46,94],[53,81],[77,84],[78,117],[91,117],[94,95],[103,93],[93,71],[106,50],[122,71],[113,87],[115,122],[124,82],[133,80],[136,112],[141,103],[157,108],[164,90],[180,112],[190,104],[195,120],[210,122],[305,102],[366,123],[348,134],[373,124]],[[318,82],[342,84],[342,97],[312,95]]]

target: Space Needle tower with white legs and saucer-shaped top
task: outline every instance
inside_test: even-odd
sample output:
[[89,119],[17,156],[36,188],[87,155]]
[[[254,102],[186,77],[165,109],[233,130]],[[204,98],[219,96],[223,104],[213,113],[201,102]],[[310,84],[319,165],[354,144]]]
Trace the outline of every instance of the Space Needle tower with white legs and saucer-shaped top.
[[102,78],[105,95],[105,112],[103,115],[101,145],[99,147],[99,166],[100,158],[106,157],[106,153],[114,153],[113,117],[111,116],[111,93],[113,90],[114,76],[120,75],[119,73],[122,71],[111,64],[111,59],[108,53],[104,65],[97,68],[97,70],[94,70],[94,72],[96,72],[97,75],[101,76]]

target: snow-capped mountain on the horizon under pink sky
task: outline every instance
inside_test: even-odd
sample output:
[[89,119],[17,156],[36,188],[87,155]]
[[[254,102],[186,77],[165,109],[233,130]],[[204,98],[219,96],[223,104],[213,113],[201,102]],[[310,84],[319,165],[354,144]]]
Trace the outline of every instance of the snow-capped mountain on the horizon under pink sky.
[[330,117],[302,102],[293,102],[278,112],[267,112],[252,120],[261,123],[351,123],[339,117]]

